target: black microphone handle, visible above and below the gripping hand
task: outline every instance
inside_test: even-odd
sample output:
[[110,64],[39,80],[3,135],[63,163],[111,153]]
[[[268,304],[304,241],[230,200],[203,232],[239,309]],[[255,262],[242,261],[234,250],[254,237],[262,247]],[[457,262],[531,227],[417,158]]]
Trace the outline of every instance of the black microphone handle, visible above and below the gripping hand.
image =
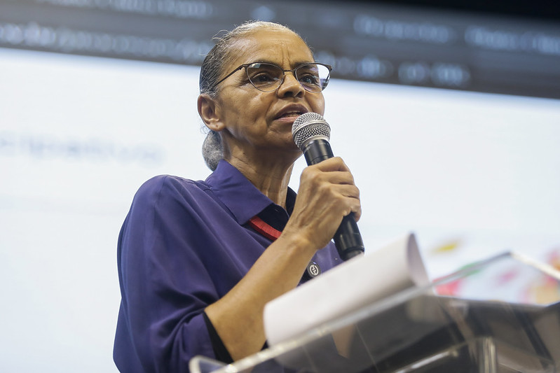
[[[334,157],[331,144],[326,139],[314,139],[304,144],[303,155],[309,166]],[[342,260],[348,260],[364,252],[362,235],[358,230],[354,213],[349,213],[342,218],[342,223],[333,238],[334,246]]]

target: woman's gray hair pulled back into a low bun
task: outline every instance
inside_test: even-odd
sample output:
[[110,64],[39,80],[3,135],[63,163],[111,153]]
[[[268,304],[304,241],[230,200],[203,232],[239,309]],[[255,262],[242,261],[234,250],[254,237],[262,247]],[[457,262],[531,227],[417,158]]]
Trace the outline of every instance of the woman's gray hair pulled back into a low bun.
[[[217,97],[219,90],[217,82],[223,72],[224,63],[234,52],[233,44],[241,38],[247,37],[254,31],[261,29],[277,29],[295,31],[289,29],[282,24],[264,21],[248,21],[240,24],[231,31],[226,31],[224,36],[214,37],[216,45],[206,55],[202,66],[200,67],[199,87],[200,94],[208,94],[210,97]],[[299,35],[298,35],[299,36]],[[203,157],[207,166],[214,171],[218,166],[218,162],[224,158],[224,148],[221,143],[221,136],[218,132],[210,130],[207,133],[203,143]]]

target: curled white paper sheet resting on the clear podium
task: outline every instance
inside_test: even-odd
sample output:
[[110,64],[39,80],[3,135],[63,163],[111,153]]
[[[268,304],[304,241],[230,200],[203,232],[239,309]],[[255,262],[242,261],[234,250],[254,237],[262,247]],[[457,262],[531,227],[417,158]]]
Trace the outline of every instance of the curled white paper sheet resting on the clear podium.
[[266,304],[273,346],[411,286],[429,283],[414,234],[355,257]]

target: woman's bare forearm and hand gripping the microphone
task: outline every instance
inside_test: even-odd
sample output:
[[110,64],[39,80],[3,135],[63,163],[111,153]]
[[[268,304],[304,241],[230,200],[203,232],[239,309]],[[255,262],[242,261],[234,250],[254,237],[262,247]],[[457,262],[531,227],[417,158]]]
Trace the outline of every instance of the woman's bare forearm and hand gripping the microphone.
[[348,167],[331,158],[307,167],[292,216],[245,277],[205,312],[233,360],[260,351],[267,302],[297,286],[309,260],[334,236],[343,216],[360,217],[360,195]]

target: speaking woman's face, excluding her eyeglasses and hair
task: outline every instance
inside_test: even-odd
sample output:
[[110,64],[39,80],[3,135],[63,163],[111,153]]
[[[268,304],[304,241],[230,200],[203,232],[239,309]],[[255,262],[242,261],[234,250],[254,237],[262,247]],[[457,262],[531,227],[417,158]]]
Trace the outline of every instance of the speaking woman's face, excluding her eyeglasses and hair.
[[[237,41],[234,48],[234,57],[224,64],[221,76],[252,62],[271,62],[285,70],[314,62],[307,45],[291,31],[261,29]],[[294,120],[306,112],[323,115],[324,111],[322,92],[307,92],[292,72],[285,73],[282,85],[273,92],[257,90],[245,69],[233,73],[219,86],[217,114],[234,157],[288,152],[295,160],[300,154],[292,140]]]

